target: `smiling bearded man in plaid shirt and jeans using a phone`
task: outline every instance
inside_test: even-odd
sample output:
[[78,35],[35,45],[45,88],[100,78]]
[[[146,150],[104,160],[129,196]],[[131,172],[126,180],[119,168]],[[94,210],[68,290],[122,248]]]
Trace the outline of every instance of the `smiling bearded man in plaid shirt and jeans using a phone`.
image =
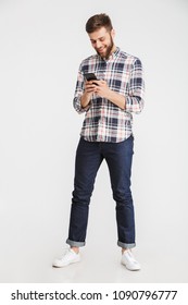
[[[91,16],[86,23],[86,32],[97,54],[85,59],[78,71],[74,108],[78,113],[85,112],[85,120],[76,151],[66,241],[70,248],[62,258],[54,260],[53,266],[64,267],[80,260],[79,247],[86,241],[95,179],[105,159],[116,202],[121,263],[129,270],[139,270],[140,265],[131,253],[135,247],[135,218],[130,173],[134,154],[133,113],[139,113],[143,108],[142,65],[138,58],[114,45],[115,33],[108,15]],[[86,81],[87,73],[95,73],[97,81]]]

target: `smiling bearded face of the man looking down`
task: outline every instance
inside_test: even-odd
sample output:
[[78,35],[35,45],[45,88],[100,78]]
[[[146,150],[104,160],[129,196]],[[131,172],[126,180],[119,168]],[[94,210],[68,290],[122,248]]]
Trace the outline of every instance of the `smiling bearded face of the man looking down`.
[[114,29],[108,32],[105,27],[101,27],[98,30],[89,34],[92,47],[101,58],[105,59],[108,59],[115,49],[113,37]]

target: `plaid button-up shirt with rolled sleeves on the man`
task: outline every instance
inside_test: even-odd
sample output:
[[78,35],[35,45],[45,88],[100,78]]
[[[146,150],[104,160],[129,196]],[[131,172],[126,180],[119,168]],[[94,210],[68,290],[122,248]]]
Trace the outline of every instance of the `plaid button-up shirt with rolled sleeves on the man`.
[[[82,108],[84,74],[90,72],[125,97],[125,110],[96,94],[89,106]],[[138,58],[116,48],[108,60],[98,54],[85,59],[79,66],[73,101],[78,113],[86,113],[80,136],[89,142],[112,143],[128,138],[133,134],[133,113],[139,113],[143,108],[143,91],[142,64]]]

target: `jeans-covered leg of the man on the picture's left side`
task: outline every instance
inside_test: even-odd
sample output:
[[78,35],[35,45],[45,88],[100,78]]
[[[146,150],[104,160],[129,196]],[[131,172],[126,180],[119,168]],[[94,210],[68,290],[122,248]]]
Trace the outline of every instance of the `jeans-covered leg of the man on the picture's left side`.
[[74,191],[66,241],[74,251],[85,245],[89,203],[101,162],[99,144],[80,138],[76,151]]

